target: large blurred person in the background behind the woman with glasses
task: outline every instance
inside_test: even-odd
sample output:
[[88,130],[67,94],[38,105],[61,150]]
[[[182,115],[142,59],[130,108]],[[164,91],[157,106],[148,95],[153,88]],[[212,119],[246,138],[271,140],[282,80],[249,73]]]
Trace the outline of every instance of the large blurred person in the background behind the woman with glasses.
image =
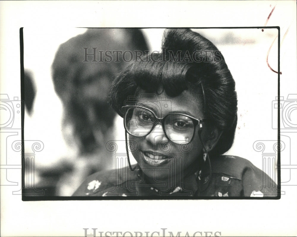
[[112,79],[129,60],[104,62],[99,51],[108,50],[144,52],[148,46],[139,29],[90,28],[56,52],[52,78],[64,107],[62,133],[78,156],[64,157],[56,167],[39,171],[38,189],[46,196],[71,196],[88,175],[113,167],[113,154],[105,149],[115,137],[116,113],[108,104],[108,93]]

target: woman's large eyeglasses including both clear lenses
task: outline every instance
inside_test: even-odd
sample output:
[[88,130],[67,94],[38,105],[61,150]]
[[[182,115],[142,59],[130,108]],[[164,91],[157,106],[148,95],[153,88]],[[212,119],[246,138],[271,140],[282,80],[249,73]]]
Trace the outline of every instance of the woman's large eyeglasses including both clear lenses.
[[164,118],[158,118],[151,109],[137,105],[127,105],[122,109],[125,111],[124,126],[129,134],[144,137],[158,126],[169,140],[177,144],[189,143],[194,137],[196,126],[199,124],[202,128],[201,123],[206,120],[182,113],[169,113]]

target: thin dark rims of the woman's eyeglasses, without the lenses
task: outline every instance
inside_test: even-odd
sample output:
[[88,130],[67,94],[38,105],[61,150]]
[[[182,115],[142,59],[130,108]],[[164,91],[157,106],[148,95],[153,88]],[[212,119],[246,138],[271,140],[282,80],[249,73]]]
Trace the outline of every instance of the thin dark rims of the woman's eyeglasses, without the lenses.
[[[130,135],[134,136],[134,137],[145,137],[145,136],[149,135],[149,134],[151,133],[151,131],[155,128],[155,126],[156,126],[157,124],[160,123],[161,126],[162,126],[162,129],[163,129],[163,132],[164,132],[166,138],[167,138],[169,141],[174,142],[173,140],[171,140],[171,139],[168,137],[168,135],[167,135],[167,133],[166,133],[166,129],[165,129],[165,119],[166,119],[168,116],[172,115],[172,114],[178,114],[178,115],[187,116],[188,118],[190,118],[190,119],[193,121],[193,124],[194,124],[194,131],[193,131],[191,140],[189,140],[189,142],[187,142],[187,143],[190,143],[190,142],[193,140],[193,138],[194,138],[194,135],[195,135],[195,132],[196,132],[196,126],[199,124],[199,129],[202,129],[202,123],[205,122],[206,120],[208,120],[208,119],[197,119],[197,118],[195,118],[195,117],[193,117],[193,116],[190,116],[190,115],[188,115],[188,114],[184,114],[184,113],[169,113],[169,114],[165,115],[163,118],[158,118],[158,117],[156,116],[156,114],[154,113],[154,111],[152,111],[152,110],[149,109],[149,108],[146,108],[146,107],[143,107],[143,106],[139,106],[139,105],[126,105],[126,106],[122,106],[122,111],[124,111],[124,109],[127,109],[127,108],[128,108],[128,109],[130,109],[130,108],[135,109],[136,107],[137,107],[137,108],[143,108],[143,109],[146,109],[146,110],[150,111],[150,112],[155,116],[156,121],[154,121],[153,126],[151,127],[151,130],[150,130],[146,135],[143,135],[143,136],[135,136],[134,134],[131,134],[131,133],[128,131],[128,129],[126,128],[126,123],[125,123],[125,121],[126,121],[126,114],[127,114],[127,111],[125,111],[125,113],[124,113],[124,128],[125,128],[125,131],[126,131],[127,133],[129,133]],[[183,142],[183,143],[177,143],[177,142],[174,142],[174,143],[176,143],[176,144],[187,144],[186,142]]]

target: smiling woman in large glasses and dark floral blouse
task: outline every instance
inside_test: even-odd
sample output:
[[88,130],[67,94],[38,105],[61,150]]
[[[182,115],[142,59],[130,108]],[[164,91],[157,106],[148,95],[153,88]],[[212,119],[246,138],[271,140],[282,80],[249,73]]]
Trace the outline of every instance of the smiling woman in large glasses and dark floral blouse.
[[251,162],[222,155],[233,144],[237,95],[218,49],[189,29],[166,30],[162,49],[113,81],[110,103],[124,118],[129,166],[91,175],[73,195],[276,196]]

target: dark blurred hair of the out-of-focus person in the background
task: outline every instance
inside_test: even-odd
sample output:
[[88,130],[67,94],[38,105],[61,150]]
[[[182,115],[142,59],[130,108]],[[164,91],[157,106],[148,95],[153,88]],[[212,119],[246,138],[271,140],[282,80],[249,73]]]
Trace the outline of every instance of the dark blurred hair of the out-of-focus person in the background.
[[92,48],[97,48],[97,57],[99,50],[148,50],[139,29],[124,28],[90,28],[60,45],[52,64],[52,78],[64,105],[63,124],[72,125],[81,154],[92,153],[105,145],[105,135],[110,132],[115,117],[108,104],[111,81],[127,66],[122,60],[92,62],[93,55],[85,58],[86,52],[93,53]]

